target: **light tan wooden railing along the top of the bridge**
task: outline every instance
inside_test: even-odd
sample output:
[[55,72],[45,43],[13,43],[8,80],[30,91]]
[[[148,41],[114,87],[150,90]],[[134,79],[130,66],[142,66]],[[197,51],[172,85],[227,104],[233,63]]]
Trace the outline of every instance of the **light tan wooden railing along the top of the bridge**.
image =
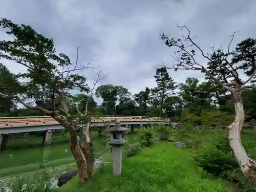
[[[101,116],[91,117],[91,122],[108,122],[112,120],[119,121],[169,121],[168,118],[162,117],[145,117],[145,116]],[[31,116],[31,117],[0,117],[0,129],[4,127],[28,126],[28,125],[54,125],[58,121],[50,116]]]

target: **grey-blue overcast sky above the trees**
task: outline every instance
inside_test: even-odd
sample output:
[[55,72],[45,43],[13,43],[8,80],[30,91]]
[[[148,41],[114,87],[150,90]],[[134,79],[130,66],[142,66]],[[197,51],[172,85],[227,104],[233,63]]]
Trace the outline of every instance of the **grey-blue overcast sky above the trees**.
[[[202,47],[226,48],[228,36],[240,30],[234,45],[255,37],[255,0],[1,0],[0,18],[31,25],[53,38],[58,52],[75,60],[80,47],[80,63],[100,66],[108,77],[101,84],[127,88],[132,94],[154,87],[155,68],[172,65],[172,49],[159,39],[160,33],[181,37],[186,25]],[[0,31],[0,38],[6,34]],[[207,51],[207,49],[206,49]],[[201,57],[199,62],[204,62]],[[12,72],[19,65],[5,62]],[[169,71],[176,82],[189,76],[203,78],[194,71]],[[86,74],[95,78],[95,71]]]

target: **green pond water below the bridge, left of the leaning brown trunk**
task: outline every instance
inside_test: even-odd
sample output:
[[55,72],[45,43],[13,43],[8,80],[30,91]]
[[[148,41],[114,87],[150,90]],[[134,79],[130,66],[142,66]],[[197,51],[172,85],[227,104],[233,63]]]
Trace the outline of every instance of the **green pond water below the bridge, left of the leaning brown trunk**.
[[[20,147],[18,147],[15,145],[17,140],[19,140],[18,142],[24,141],[24,143],[30,140],[30,143],[34,143],[34,145],[19,143]],[[10,144],[8,150],[0,152],[0,187],[11,182],[12,178],[17,176],[42,174],[40,170],[42,166],[46,167],[53,176],[75,168],[76,164],[69,149],[69,141],[42,146],[41,141],[34,142],[33,138],[17,140],[15,144]]]

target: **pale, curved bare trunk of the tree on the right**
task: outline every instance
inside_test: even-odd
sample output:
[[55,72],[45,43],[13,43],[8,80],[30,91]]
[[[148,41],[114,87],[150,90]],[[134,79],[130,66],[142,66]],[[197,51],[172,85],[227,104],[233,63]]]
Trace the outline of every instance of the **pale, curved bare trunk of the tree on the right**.
[[241,85],[236,84],[233,95],[234,109],[236,111],[236,118],[229,129],[229,145],[232,148],[234,157],[236,158],[243,174],[248,177],[250,182],[255,186],[256,184],[256,162],[250,159],[245,152],[245,149],[241,143],[241,131],[244,124],[244,108],[241,97]]

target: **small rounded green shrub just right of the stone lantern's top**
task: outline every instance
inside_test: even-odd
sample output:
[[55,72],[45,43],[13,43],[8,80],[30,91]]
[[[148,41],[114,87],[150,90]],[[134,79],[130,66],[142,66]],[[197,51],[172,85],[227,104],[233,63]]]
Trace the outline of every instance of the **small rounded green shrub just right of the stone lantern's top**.
[[153,128],[141,129],[139,130],[139,134],[142,147],[148,147],[154,144],[156,131]]

